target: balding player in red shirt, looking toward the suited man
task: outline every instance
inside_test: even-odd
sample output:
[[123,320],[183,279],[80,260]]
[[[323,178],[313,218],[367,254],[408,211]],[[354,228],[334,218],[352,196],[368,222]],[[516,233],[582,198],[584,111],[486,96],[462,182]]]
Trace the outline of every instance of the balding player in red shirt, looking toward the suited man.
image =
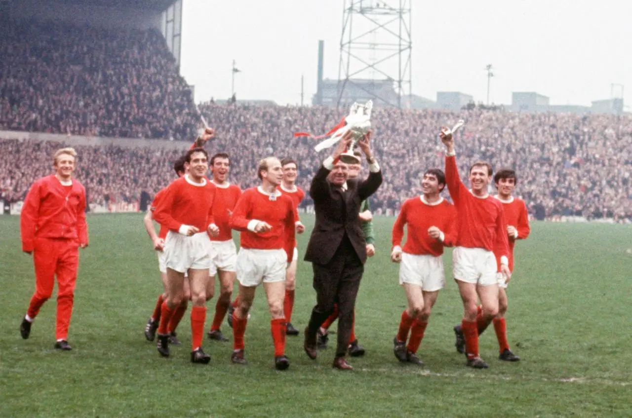
[[231,361],[245,364],[244,334],[248,311],[258,285],[264,285],[274,342],[274,364],[279,370],[289,367],[285,356],[283,299],[287,263],[296,246],[296,210],[292,200],[277,190],[283,180],[281,162],[274,157],[259,162],[257,175],[261,185],[241,194],[231,216],[230,225],[241,231],[241,248],[237,254],[239,306],[233,313],[234,346]]

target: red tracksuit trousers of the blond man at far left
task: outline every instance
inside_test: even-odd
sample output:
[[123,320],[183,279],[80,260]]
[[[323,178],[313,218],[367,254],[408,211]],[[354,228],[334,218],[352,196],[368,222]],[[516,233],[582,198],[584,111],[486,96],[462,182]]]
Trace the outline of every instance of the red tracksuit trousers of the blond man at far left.
[[28,305],[27,314],[35,318],[51,296],[57,275],[57,326],[56,339],[67,340],[70,316],[73,312],[79,244],[70,239],[35,239],[35,293]]

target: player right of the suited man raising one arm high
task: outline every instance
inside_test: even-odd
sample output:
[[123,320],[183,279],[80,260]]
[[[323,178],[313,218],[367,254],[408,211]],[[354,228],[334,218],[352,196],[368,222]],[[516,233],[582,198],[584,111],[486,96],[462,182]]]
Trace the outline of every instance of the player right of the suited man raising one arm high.
[[[439,135],[446,146],[446,183],[458,212],[456,248],[453,251],[454,280],[463,300],[463,321],[460,330],[465,337],[467,366],[486,369],[478,355],[478,330],[489,325],[498,314],[497,272],[511,277],[509,243],[502,203],[487,192],[492,167],[475,162],[470,167],[471,190],[459,177],[454,152],[453,133],[442,128]],[[500,258],[500,268],[496,257]],[[477,299],[482,313],[477,319]]]

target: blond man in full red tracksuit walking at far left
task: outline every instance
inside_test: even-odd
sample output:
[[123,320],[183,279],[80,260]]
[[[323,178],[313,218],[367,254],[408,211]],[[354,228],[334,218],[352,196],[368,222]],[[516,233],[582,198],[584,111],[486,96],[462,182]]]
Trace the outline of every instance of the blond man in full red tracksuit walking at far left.
[[55,348],[71,350],[68,326],[79,264],[78,248],[88,246],[85,188],[72,179],[76,152],[62,148],[54,155],[55,174],[33,183],[21,211],[22,251],[33,254],[35,293],[23,318],[20,333],[27,339],[33,319],[52,295],[57,276],[57,327]]

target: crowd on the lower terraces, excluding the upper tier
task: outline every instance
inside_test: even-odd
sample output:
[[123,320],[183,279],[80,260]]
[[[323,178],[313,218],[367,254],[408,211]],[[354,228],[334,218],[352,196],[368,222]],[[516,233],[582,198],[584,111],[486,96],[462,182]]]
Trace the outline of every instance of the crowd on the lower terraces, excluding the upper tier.
[[[343,116],[343,111],[322,107],[204,104],[200,109],[217,129],[207,148],[233,157],[231,181],[243,188],[256,184],[253,167],[259,158],[277,155],[300,161],[298,184],[308,189],[324,153],[313,150],[316,140],[294,138],[293,133],[323,133]],[[465,128],[457,137],[462,176],[474,160],[488,160],[496,169],[517,170],[517,194],[532,214],[632,219],[630,117],[375,109],[372,119],[375,153],[386,177],[372,200],[380,213],[396,212],[405,198],[420,193],[423,170],[444,165],[439,127],[464,119]],[[50,170],[50,155],[59,146],[0,141],[0,178],[8,200],[21,199],[32,179]],[[88,199],[99,204],[138,200],[142,191],[153,195],[173,178],[170,165],[179,155],[162,148],[76,148],[77,177],[87,186]],[[305,205],[310,205],[309,199]]]

